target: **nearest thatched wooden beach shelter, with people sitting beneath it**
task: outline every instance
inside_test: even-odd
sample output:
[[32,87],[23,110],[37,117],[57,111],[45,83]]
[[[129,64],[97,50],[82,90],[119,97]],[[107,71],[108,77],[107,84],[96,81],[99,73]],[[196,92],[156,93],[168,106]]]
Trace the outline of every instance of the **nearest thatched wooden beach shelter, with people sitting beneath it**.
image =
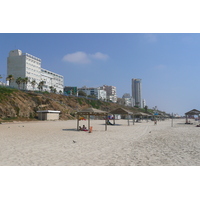
[[81,111],[78,111],[77,113],[77,130],[79,130],[79,118],[80,116],[86,115],[88,116],[88,129],[90,128],[90,116],[104,116],[105,117],[105,131],[107,130],[107,118],[108,118],[108,112],[103,110],[98,110],[95,108],[86,108]]

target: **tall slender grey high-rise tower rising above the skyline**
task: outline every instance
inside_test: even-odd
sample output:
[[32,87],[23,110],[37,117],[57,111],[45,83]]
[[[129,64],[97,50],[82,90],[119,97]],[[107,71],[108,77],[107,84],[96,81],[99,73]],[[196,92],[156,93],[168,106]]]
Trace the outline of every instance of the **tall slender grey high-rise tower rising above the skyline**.
[[135,105],[139,108],[143,107],[142,104],[142,80],[132,79],[132,97],[135,100]]

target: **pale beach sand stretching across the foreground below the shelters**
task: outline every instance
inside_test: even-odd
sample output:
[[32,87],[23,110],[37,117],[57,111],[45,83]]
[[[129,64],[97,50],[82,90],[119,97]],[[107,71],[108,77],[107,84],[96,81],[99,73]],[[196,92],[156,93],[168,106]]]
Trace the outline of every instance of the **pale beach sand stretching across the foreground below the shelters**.
[[91,120],[88,133],[76,120],[3,123],[0,166],[199,166],[200,127],[171,125],[116,120],[105,131],[103,120]]

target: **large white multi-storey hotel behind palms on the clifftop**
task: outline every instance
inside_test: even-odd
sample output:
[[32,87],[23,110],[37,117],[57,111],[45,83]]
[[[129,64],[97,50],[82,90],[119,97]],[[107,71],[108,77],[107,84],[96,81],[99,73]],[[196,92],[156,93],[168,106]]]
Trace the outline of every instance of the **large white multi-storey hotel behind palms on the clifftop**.
[[[57,92],[64,88],[64,77],[54,72],[41,68],[41,59],[28,53],[22,53],[21,50],[12,50],[7,58],[7,75],[12,75],[16,80],[18,77],[28,77],[29,83],[27,90],[38,90],[37,85],[32,87],[31,81],[35,80],[37,84],[44,81],[43,91],[50,91],[49,87],[54,87]],[[11,81],[10,86],[18,88],[16,82]]]

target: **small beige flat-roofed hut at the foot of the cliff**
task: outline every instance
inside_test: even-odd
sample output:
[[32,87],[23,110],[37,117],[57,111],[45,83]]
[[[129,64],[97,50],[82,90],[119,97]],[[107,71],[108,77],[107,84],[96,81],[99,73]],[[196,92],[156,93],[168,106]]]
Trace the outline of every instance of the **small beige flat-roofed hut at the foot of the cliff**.
[[39,120],[59,120],[60,111],[40,110],[37,111]]

